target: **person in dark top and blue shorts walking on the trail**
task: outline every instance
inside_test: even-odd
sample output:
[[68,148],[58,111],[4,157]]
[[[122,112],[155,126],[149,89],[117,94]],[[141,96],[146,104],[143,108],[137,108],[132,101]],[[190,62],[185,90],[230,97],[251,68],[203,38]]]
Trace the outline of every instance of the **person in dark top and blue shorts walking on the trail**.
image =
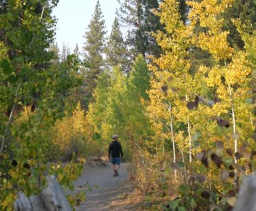
[[109,144],[109,160],[113,164],[113,176],[118,176],[118,169],[120,168],[121,158],[122,156],[122,146],[121,143],[118,142],[118,135],[112,136],[113,141]]

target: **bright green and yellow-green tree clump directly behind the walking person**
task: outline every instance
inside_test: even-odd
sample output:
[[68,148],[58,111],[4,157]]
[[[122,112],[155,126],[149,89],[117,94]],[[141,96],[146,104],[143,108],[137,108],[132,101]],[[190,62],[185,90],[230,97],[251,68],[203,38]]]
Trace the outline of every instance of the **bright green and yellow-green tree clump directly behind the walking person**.
[[128,149],[152,134],[145,110],[149,88],[149,72],[143,56],[136,58],[129,78],[120,67],[113,68],[113,73],[100,75],[95,102],[90,104],[87,115],[95,133],[100,134],[100,141],[108,143],[111,135],[119,134],[122,145]]

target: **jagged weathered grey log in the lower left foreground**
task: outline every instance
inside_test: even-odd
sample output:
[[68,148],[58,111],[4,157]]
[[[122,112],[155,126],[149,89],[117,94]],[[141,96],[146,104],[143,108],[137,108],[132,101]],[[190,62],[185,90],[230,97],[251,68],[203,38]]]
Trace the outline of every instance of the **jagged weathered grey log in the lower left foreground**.
[[15,211],[72,211],[64,190],[54,176],[47,177],[47,187],[37,196],[26,197],[19,192]]

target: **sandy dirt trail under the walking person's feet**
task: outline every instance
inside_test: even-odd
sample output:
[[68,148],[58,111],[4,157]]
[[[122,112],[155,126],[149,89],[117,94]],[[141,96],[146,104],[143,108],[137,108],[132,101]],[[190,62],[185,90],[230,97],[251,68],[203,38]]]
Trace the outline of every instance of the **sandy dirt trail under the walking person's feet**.
[[[122,163],[119,176],[114,177],[111,163],[106,166],[84,166],[82,176],[76,181],[76,190],[80,185],[89,182],[93,190],[86,191],[86,202],[75,210],[77,211],[133,211],[134,208],[127,204],[124,198],[131,192],[131,184],[128,182],[127,164]],[[97,185],[98,188],[94,186]]]

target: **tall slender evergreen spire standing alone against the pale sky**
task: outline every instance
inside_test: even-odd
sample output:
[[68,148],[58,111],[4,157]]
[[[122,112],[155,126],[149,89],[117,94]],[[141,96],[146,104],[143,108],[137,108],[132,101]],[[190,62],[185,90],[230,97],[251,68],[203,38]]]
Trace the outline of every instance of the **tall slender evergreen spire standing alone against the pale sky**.
[[85,73],[87,104],[92,100],[93,89],[97,85],[96,80],[102,72],[102,66],[104,66],[104,60],[102,57],[105,41],[104,35],[106,34],[106,31],[104,30],[104,23],[105,21],[102,16],[100,1],[97,1],[93,17],[88,26],[89,30],[86,31],[84,36],[86,39],[83,47],[84,58],[90,64],[90,67],[86,68]]

